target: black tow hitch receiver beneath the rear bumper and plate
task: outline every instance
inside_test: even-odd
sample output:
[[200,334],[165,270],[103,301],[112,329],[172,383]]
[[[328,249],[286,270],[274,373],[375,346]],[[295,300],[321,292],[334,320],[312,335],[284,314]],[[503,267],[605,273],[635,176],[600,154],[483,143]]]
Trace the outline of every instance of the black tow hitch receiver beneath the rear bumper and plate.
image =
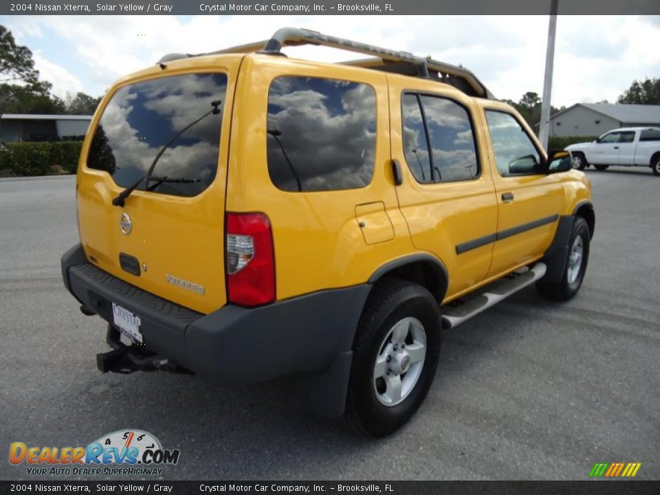
[[111,351],[96,355],[96,366],[103,373],[133,373],[133,371],[155,371],[163,369],[175,373],[190,373],[153,351],[135,345],[126,345],[120,340],[120,332],[108,325],[107,342]]

